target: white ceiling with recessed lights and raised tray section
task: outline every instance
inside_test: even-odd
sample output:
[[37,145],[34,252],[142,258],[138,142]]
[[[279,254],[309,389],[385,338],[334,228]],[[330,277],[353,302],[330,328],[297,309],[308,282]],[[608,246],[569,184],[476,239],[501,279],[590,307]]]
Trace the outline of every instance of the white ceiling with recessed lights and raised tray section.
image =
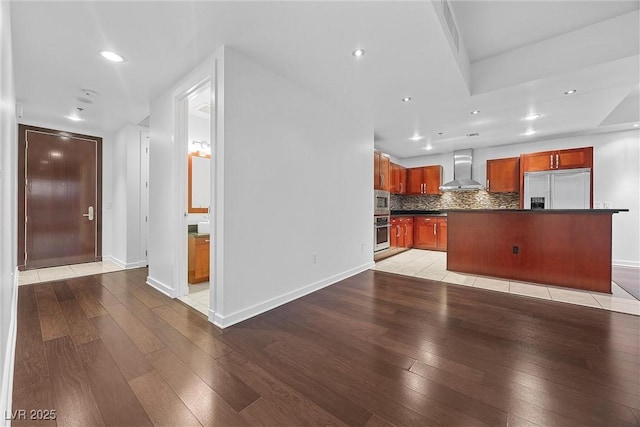
[[[397,158],[618,131],[640,120],[639,3],[449,1],[456,48],[441,0],[14,1],[16,95],[23,123],[115,132],[227,45],[369,123]],[[84,121],[65,118],[77,107]]]

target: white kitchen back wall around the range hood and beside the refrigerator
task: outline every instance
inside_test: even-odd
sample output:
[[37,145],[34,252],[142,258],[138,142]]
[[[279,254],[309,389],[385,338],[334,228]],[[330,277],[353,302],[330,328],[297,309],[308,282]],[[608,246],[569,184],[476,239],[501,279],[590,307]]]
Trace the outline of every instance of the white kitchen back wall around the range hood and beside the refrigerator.
[[[593,147],[593,200],[629,209],[613,216],[613,264],[640,267],[640,131],[630,130],[474,150],[473,178],[486,181],[488,159],[565,148]],[[440,164],[453,179],[453,153],[404,159],[406,167]],[[597,242],[594,242],[597,244]]]

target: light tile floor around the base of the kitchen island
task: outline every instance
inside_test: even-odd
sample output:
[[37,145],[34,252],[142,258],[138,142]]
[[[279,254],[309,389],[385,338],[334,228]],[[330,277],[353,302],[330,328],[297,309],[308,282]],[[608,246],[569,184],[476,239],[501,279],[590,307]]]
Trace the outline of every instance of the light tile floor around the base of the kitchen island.
[[615,282],[612,282],[611,285],[612,293],[603,294],[600,292],[456,273],[447,271],[446,252],[410,249],[378,261],[373,269],[438,280],[454,285],[472,286],[475,288],[490,289],[492,291],[584,305],[640,316],[640,301],[635,299]]

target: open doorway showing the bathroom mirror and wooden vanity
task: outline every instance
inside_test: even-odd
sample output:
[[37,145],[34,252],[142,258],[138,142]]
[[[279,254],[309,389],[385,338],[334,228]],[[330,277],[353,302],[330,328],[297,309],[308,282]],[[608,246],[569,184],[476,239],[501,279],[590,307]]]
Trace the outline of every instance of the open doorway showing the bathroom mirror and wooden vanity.
[[[212,153],[212,87],[210,80],[201,82],[189,91],[183,102],[186,114],[180,115],[186,120],[182,135],[186,144],[186,230],[187,239],[186,287],[178,298],[209,315],[211,301],[211,159]],[[185,292],[186,291],[186,292]]]

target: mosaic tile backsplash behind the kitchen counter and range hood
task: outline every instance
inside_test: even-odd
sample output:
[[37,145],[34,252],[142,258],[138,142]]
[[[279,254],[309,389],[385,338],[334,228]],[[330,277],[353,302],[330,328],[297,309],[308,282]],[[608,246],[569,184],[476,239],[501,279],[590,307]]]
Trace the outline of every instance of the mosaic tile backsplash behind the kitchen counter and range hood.
[[518,209],[520,193],[488,193],[484,190],[449,191],[439,196],[391,195],[391,210]]

